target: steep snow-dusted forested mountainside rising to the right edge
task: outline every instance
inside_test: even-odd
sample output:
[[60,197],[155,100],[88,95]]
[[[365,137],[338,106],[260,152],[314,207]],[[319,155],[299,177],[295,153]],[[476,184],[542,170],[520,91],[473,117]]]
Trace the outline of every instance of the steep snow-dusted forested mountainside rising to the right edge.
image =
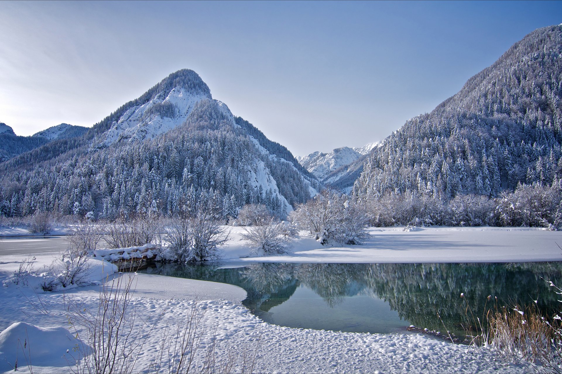
[[374,148],[353,186],[369,200],[412,193],[497,196],[562,176],[562,26],[537,29],[454,96]]

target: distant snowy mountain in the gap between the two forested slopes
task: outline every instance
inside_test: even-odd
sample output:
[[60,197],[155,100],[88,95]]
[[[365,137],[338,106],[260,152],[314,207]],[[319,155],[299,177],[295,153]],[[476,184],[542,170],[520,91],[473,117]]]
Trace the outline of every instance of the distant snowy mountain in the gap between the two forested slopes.
[[[379,142],[369,143],[363,147],[341,147],[330,152],[313,152],[303,157],[297,157],[298,162],[314,175],[318,180],[332,188],[340,188],[343,191],[351,189],[353,182],[359,177],[362,165],[365,163],[366,155],[379,145]],[[355,179],[346,182],[348,174],[353,170],[360,169]]]

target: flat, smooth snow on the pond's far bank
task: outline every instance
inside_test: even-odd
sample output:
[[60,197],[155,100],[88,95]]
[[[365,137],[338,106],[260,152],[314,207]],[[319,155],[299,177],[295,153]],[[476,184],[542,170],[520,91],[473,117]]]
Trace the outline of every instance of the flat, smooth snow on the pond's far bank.
[[[248,257],[242,228],[233,228],[225,259],[241,262],[461,263],[560,261],[562,231],[511,227],[369,228],[363,245],[322,246],[306,232],[289,254]],[[242,257],[242,258],[240,258]]]

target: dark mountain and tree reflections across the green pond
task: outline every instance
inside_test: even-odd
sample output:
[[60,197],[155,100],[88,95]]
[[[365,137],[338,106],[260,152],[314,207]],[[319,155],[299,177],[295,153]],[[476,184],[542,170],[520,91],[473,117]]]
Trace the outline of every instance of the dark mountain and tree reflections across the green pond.
[[[299,285],[309,287],[334,307],[346,297],[372,294],[388,302],[416,326],[441,330],[438,311],[450,330],[465,320],[466,296],[475,316],[482,316],[487,296],[504,304],[530,304],[551,314],[559,308],[545,280],[562,284],[562,263],[508,264],[287,264],[255,263],[244,268],[161,265],[152,273],[230,283],[248,292],[244,305],[257,315],[291,298]],[[544,278],[545,280],[541,279]],[[488,307],[493,305],[488,304]]]

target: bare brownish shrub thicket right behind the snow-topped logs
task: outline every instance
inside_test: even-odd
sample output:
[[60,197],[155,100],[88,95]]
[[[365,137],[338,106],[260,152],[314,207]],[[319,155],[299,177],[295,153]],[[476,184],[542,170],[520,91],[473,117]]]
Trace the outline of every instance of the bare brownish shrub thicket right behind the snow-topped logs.
[[157,217],[137,217],[117,219],[107,225],[105,241],[110,248],[126,248],[152,243],[160,233],[160,220]]

